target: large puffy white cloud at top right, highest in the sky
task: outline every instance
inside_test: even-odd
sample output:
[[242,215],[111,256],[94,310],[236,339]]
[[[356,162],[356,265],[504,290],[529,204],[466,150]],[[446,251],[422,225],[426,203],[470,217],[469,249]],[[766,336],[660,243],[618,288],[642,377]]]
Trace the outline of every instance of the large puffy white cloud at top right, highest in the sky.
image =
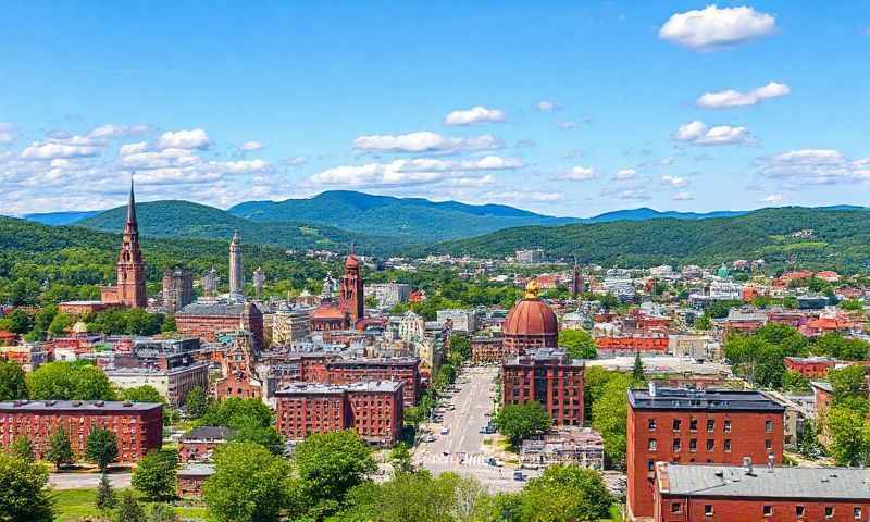
[[775,28],[776,20],[772,15],[753,8],[708,5],[674,14],[659,29],[659,38],[696,51],[714,51],[770,35]]

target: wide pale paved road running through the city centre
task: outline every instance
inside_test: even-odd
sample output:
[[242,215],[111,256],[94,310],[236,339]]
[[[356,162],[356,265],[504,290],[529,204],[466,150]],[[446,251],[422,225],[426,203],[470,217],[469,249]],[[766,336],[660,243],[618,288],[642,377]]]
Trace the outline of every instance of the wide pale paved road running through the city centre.
[[[474,476],[490,490],[518,490],[523,482],[513,480],[513,469],[497,468],[487,464],[487,447],[484,435],[480,433],[489,418],[486,413],[493,410],[494,380],[498,374],[496,368],[470,368],[463,371],[458,382],[459,390],[450,399],[449,409],[444,413],[440,423],[427,424],[425,427],[435,435],[435,442],[421,443],[414,451],[414,462],[433,473],[452,471],[467,476]],[[440,435],[442,428],[449,434]],[[524,470],[525,476],[534,476],[537,472]]]

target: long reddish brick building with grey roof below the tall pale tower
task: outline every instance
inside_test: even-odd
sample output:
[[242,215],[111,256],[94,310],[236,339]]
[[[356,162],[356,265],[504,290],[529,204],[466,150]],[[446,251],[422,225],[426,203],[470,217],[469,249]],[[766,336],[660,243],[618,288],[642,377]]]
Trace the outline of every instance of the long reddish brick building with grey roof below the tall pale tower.
[[194,302],[175,312],[175,327],[182,335],[208,343],[241,327],[253,334],[257,349],[263,346],[263,314],[251,302]]

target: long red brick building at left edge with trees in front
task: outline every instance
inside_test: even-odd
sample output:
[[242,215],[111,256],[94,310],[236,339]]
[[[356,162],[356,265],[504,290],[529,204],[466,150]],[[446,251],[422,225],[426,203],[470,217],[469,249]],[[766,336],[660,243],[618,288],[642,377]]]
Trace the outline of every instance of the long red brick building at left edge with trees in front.
[[0,402],[0,446],[27,436],[36,457],[41,459],[57,430],[70,435],[73,451],[85,455],[94,428],[105,428],[117,436],[117,461],[136,462],[163,442],[163,405],[151,402],[104,402],[46,400]]

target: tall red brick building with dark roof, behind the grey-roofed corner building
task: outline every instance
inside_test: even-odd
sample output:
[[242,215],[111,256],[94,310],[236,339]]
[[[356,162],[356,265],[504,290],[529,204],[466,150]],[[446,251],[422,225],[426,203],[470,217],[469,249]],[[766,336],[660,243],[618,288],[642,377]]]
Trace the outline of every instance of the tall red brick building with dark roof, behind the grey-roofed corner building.
[[627,393],[630,520],[655,515],[656,462],[738,464],[772,455],[782,463],[785,408],[760,391],[651,386]]

